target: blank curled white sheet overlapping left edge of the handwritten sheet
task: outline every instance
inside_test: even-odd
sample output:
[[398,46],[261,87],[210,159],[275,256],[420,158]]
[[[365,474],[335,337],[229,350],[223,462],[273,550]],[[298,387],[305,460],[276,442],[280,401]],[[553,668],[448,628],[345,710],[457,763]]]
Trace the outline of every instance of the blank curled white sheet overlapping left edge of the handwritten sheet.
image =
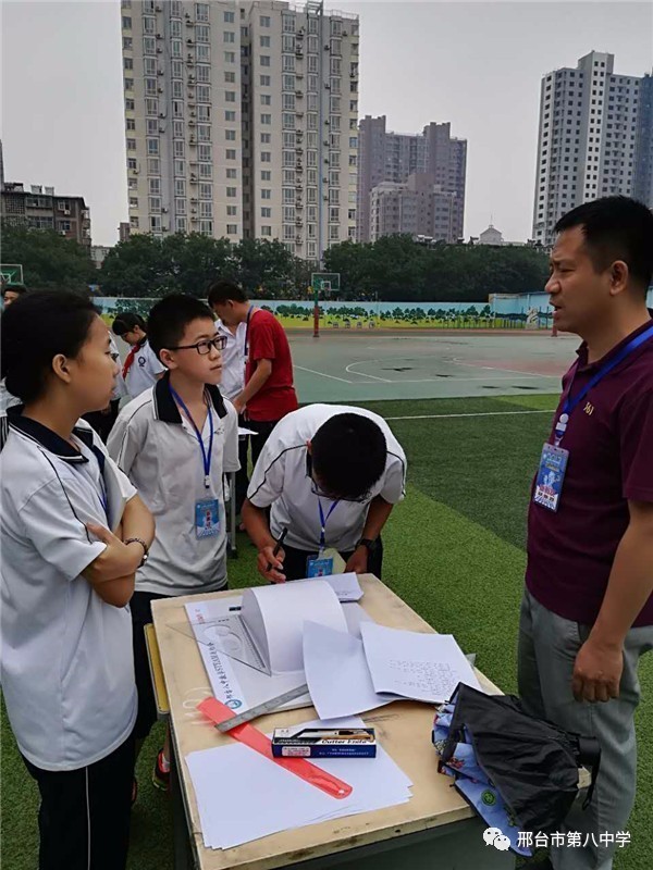
[[304,623],[304,670],[320,719],[337,719],[397,700],[374,692],[362,641],[316,622]]

